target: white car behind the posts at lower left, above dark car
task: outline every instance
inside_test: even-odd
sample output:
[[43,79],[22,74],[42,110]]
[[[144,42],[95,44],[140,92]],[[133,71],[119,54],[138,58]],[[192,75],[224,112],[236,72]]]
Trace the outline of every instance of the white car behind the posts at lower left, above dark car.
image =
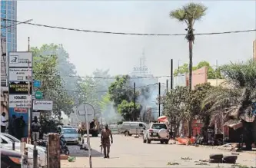
[[[2,149],[12,150],[12,142],[15,142],[15,151],[20,152],[21,149],[21,141],[17,138],[13,137],[12,135],[8,133],[1,133],[0,135],[1,144],[0,147]],[[34,145],[32,144],[26,144],[26,147],[28,147],[28,162],[32,162],[29,158],[33,157],[33,149]],[[45,147],[36,147],[38,150],[38,166],[46,166],[46,148]]]

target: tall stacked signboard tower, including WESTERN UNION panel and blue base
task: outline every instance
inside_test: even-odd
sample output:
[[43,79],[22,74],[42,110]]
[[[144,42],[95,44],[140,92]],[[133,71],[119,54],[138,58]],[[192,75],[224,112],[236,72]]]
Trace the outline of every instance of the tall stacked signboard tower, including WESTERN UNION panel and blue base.
[[[20,136],[28,137],[28,117],[31,115],[30,108],[32,107],[32,52],[8,52],[7,63],[9,89],[8,118],[10,119],[14,115],[17,118],[23,117],[25,127]],[[8,122],[8,124],[11,127],[12,122]],[[9,133],[12,133],[12,129],[9,129]]]

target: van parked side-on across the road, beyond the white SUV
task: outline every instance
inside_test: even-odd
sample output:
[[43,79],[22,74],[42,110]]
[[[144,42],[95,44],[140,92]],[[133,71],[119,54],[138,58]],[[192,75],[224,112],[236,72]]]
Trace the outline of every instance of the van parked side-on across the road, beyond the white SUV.
[[125,133],[125,136],[138,135],[141,134],[148,125],[143,122],[138,121],[125,121],[121,124],[121,133]]

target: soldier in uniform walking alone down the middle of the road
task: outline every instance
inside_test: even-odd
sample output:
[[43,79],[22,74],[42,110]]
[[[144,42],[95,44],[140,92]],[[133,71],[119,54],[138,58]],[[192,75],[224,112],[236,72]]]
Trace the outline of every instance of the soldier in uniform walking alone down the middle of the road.
[[111,137],[111,143],[113,143],[111,130],[108,129],[108,124],[106,124],[105,129],[101,131],[101,145],[104,151],[104,158],[109,158],[109,152],[110,152],[109,136]]

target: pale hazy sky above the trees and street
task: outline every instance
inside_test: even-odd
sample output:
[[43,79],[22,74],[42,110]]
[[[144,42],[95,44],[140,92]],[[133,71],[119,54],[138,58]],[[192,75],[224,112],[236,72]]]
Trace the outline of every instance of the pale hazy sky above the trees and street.
[[[44,25],[97,31],[135,33],[185,33],[185,25],[169,18],[169,12],[185,1],[18,1],[18,21],[33,19]],[[256,28],[255,1],[205,1],[207,15],[195,24],[196,32],[236,31]],[[111,74],[128,74],[138,66],[145,48],[147,65],[155,75],[169,75],[170,59],[188,62],[188,42],[183,36],[145,37],[103,35],[32,25],[18,25],[18,51],[31,45],[63,44],[78,74],[91,74],[96,68]],[[206,35],[195,38],[194,64],[215,64],[252,58],[255,32]]]

